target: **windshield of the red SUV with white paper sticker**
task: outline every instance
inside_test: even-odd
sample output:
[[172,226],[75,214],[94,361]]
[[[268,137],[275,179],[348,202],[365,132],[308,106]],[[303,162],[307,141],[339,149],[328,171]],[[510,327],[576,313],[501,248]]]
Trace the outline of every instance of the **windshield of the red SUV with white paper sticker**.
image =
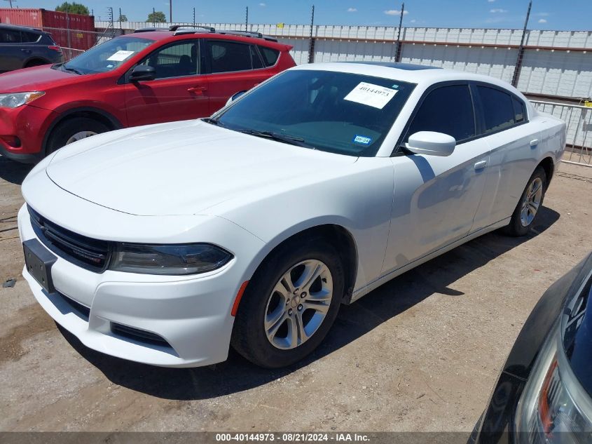
[[77,74],[112,71],[151,43],[154,41],[138,37],[118,37],[90,48],[69,62],[58,65],[57,69]]

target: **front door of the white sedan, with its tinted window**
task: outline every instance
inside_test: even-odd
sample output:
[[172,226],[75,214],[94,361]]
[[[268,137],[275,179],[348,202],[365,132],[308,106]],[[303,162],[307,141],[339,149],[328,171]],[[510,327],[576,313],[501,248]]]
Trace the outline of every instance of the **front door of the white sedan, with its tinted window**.
[[489,145],[476,139],[467,84],[439,86],[427,93],[404,141],[418,131],[452,135],[450,156],[405,154],[392,158],[394,205],[383,271],[392,271],[469,234],[483,189]]

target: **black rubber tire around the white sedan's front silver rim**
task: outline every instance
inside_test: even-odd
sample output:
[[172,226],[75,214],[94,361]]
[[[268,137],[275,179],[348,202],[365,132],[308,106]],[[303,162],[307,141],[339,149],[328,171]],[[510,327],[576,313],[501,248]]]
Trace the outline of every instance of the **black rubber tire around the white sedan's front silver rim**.
[[[333,281],[333,296],[317,330],[294,349],[280,349],[270,342],[264,328],[268,301],[280,278],[305,260],[318,260],[326,265]],[[252,363],[265,368],[280,368],[300,361],[319,346],[333,325],[343,300],[344,276],[339,254],[322,238],[281,245],[266,258],[247,285],[234,323],[233,348]]]

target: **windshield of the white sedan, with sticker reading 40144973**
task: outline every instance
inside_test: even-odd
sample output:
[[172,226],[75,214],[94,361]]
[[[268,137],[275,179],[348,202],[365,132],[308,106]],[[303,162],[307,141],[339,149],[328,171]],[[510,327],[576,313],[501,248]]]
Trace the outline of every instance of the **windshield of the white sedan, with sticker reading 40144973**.
[[284,72],[209,119],[231,130],[374,156],[415,84],[345,72]]

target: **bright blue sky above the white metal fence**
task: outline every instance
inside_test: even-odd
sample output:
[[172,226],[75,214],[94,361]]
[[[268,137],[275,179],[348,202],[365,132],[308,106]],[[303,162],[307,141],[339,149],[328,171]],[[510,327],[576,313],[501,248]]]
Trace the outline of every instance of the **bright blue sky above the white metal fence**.
[[[63,0],[16,0],[19,8],[53,9]],[[118,8],[130,21],[144,21],[152,8],[169,15],[168,0],[115,1],[77,0],[92,8],[95,16],[106,18],[106,8]],[[401,1],[383,0],[172,0],[174,21],[244,22],[249,6],[252,23],[308,23],[310,6],[315,4],[318,25],[399,24]],[[592,30],[592,0],[534,0],[530,29]],[[8,4],[6,4],[8,6]],[[407,0],[404,26],[419,27],[523,27],[528,0]]]

